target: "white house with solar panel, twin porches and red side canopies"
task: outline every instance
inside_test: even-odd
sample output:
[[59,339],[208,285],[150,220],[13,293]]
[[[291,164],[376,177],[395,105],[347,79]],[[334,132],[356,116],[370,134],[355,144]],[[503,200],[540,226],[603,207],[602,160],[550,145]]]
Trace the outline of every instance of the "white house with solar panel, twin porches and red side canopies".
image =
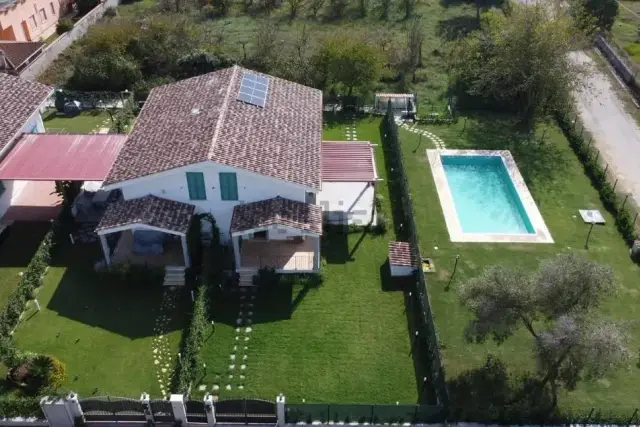
[[323,142],[322,127],[321,91],[234,66],[154,88],[128,136],[17,131],[0,179],[117,194],[95,226],[105,263],[163,265],[169,284],[210,213],[249,284],[262,267],[317,272],[323,220],[375,223],[375,145]]

